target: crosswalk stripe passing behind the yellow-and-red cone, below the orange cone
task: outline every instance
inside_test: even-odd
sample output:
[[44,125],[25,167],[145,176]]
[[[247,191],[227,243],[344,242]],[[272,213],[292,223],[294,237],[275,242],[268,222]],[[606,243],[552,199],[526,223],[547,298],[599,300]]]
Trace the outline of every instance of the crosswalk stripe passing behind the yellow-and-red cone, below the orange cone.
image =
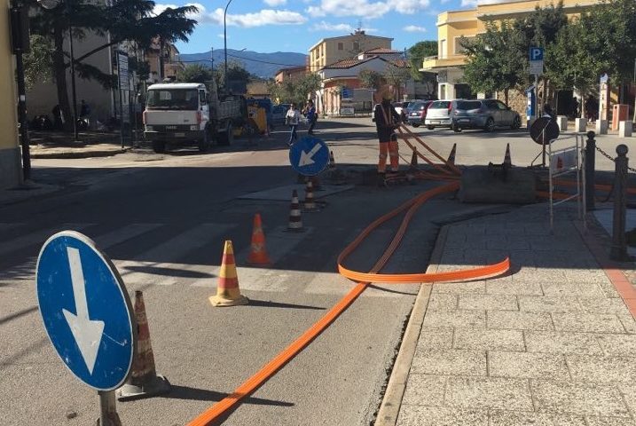
[[[311,234],[312,228],[305,229],[304,233],[290,233],[287,232],[287,226],[279,226],[266,232],[266,248],[270,255],[271,264],[276,264],[283,256],[292,251],[299,242]],[[286,291],[287,284],[285,281],[291,276],[291,272],[250,267],[247,264],[249,251],[250,248],[245,248],[236,256],[240,288],[255,291]],[[191,286],[216,288],[216,277],[218,277],[219,269],[219,266],[213,267],[210,270],[210,273],[214,275],[213,277],[196,280]]]

